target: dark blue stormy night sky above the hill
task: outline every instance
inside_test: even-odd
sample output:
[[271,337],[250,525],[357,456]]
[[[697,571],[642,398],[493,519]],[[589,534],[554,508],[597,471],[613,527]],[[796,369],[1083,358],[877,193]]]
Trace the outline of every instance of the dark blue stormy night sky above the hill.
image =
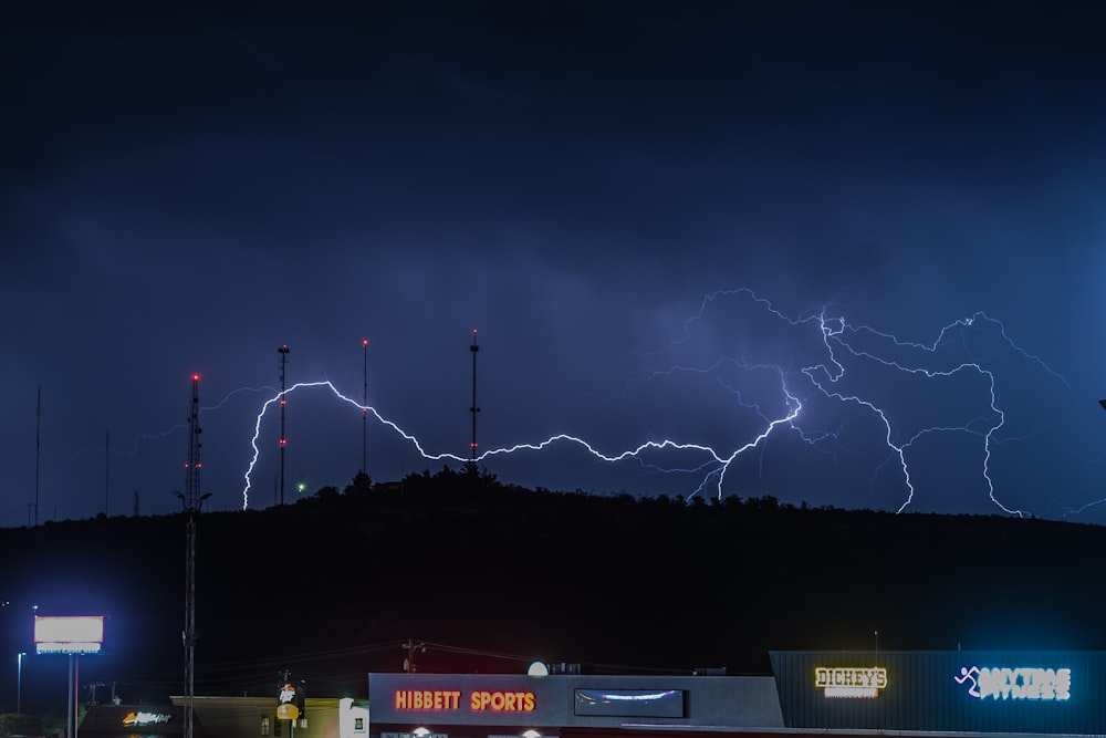
[[504,482],[1106,522],[1097,3],[23,4],[0,526],[178,510],[194,373],[273,505],[283,344],[285,500],[460,468],[474,329]]

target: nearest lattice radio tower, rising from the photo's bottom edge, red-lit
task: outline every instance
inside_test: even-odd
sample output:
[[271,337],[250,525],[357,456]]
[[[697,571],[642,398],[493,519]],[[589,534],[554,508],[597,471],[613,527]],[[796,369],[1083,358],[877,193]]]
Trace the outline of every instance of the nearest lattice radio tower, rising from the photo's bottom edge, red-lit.
[[185,725],[184,738],[192,738],[192,701],[196,695],[196,517],[209,495],[200,495],[200,375],[192,375],[192,408],[188,416],[188,461],[185,493],[177,492],[187,518],[185,553]]

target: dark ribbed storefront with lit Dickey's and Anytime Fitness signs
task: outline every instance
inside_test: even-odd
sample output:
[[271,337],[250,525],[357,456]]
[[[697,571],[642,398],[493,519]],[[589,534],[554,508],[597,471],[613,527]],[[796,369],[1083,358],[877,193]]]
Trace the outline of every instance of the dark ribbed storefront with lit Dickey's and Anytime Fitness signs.
[[1102,652],[772,652],[789,728],[1106,734]]

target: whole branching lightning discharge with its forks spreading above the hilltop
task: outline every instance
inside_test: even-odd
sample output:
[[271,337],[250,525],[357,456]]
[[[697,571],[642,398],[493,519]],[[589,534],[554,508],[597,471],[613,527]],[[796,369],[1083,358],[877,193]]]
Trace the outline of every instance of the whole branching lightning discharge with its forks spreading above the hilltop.
[[[743,315],[752,313],[755,320],[762,323],[766,321],[769,326],[775,324],[776,328],[771,329],[775,333],[795,333],[781,342],[784,345],[792,345],[787,343],[789,341],[795,344],[789,351],[781,350],[784,361],[772,362],[765,361],[763,356],[751,356],[750,353],[757,354],[758,351],[763,353],[763,347],[760,346],[748,352],[742,349],[737,355],[710,356],[699,362],[684,358],[681,350],[695,343],[696,332],[706,330],[702,323],[711,316],[712,311],[720,310],[720,303],[723,301],[729,301],[731,309],[735,306],[743,311]],[[723,323],[719,332],[724,333],[726,328]],[[763,330],[763,326],[758,330]],[[625,370],[633,375],[622,385],[622,394],[629,392],[630,387],[640,387],[680,374],[713,376],[717,386],[735,399],[735,407],[748,412],[747,415],[751,414],[754,418],[752,425],[744,422],[734,427],[727,444],[666,437],[650,438],[620,450],[604,450],[580,435],[559,433],[544,440],[486,450],[476,457],[476,461],[521,453],[540,454],[554,446],[572,445],[605,464],[634,460],[650,472],[696,476],[698,481],[685,490],[688,500],[706,493],[720,499],[726,493],[728,472],[734,464],[745,456],[759,454],[760,464],[763,465],[769,441],[780,434],[831,456],[841,450],[838,445],[848,420],[828,426],[818,419],[804,423],[806,405],[817,399],[822,404],[828,403],[839,408],[855,408],[878,422],[878,427],[881,428],[878,444],[886,450],[884,461],[873,471],[873,479],[888,465],[896,470],[902,490],[901,499],[890,507],[899,512],[909,508],[919,492],[912,474],[917,460],[911,458],[919,441],[935,435],[964,434],[977,439],[975,443],[982,446],[979,475],[985,482],[991,503],[1006,514],[1023,517],[1030,513],[1004,503],[992,479],[993,450],[998,444],[1011,438],[999,435],[1006,425],[1006,409],[999,401],[1001,396],[999,378],[987,358],[975,355],[969,342],[969,331],[984,330],[997,334],[1010,351],[1067,386],[1063,376],[1048,367],[1040,357],[1014,343],[1000,321],[982,312],[949,323],[938,332],[931,343],[918,343],[901,340],[869,325],[853,325],[844,315],[831,313],[828,306],[790,316],[749,289],[713,292],[707,294],[698,312],[684,322],[680,337],[659,351],[625,357],[615,368]],[[748,326],[747,332],[751,335],[757,334]],[[743,345],[741,343],[743,341],[745,336],[741,337],[739,344]],[[980,340],[980,343],[985,342]],[[723,371],[774,377],[775,396],[759,397],[754,391],[739,386],[731,378],[723,376]],[[878,392],[864,385],[864,372],[876,371],[930,384],[959,383],[958,387],[971,388],[975,395],[971,403],[978,405],[978,410],[969,419],[959,423],[921,425],[916,419],[904,418],[902,413],[897,413],[889,406],[887,398],[881,399]],[[860,375],[859,385],[854,376],[857,373]],[[469,458],[457,454],[428,451],[413,433],[384,417],[376,408],[342,394],[330,381],[303,382],[268,399],[257,416],[251,439],[253,456],[244,474],[243,509],[249,507],[251,475],[260,456],[258,439],[265,412],[285,395],[310,387],[325,387],[340,401],[362,414],[371,414],[379,424],[409,443],[425,459],[470,462]],[[910,423],[917,427],[908,429]],[[657,460],[666,455],[678,456],[685,459],[685,462],[676,466]],[[699,457],[700,460],[688,465],[686,459],[693,457]]]

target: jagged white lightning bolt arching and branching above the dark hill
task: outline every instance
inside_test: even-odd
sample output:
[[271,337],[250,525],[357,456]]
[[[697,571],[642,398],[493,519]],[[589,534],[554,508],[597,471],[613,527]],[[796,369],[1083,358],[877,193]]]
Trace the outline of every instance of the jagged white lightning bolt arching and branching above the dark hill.
[[[716,358],[712,362],[702,365],[686,365],[678,362],[672,362],[671,365],[666,370],[649,371],[646,370],[646,376],[644,380],[637,380],[636,382],[650,382],[656,378],[662,378],[671,376],[676,373],[703,373],[703,374],[716,374],[720,371],[723,365],[730,365],[735,368],[744,371],[770,371],[774,373],[779,381],[779,393],[780,399],[783,407],[778,410],[774,415],[768,414],[761,406],[761,404],[755,402],[749,402],[742,397],[742,393],[730,386],[727,382],[723,382],[719,376],[719,384],[730,393],[732,393],[741,407],[751,409],[760,418],[760,429],[752,434],[748,434],[743,441],[739,440],[729,451],[718,450],[716,447],[701,444],[691,443],[687,440],[676,440],[671,438],[667,439],[650,439],[640,443],[636,446],[628,447],[620,451],[604,451],[597,448],[594,444],[585,440],[584,438],[571,435],[567,433],[560,433],[550,436],[545,440],[538,443],[522,443],[515,444],[513,446],[505,446],[502,448],[495,448],[491,450],[486,450],[479,456],[472,459],[458,456],[456,454],[432,454],[427,451],[421,443],[413,434],[408,433],[401,428],[397,423],[385,418],[375,408],[363,405],[351,397],[345,396],[328,381],[320,382],[301,382],[299,384],[289,387],[288,389],[278,393],[275,396],[270,398],[264,403],[261,412],[258,414],[257,422],[254,424],[253,438],[250,444],[253,448],[253,457],[251,458],[249,466],[244,474],[246,485],[242,489],[242,508],[247,509],[249,507],[249,492],[251,488],[251,475],[253,472],[254,466],[258,462],[260,456],[260,449],[258,446],[258,438],[261,434],[261,420],[264,417],[265,412],[274,403],[281,402],[285,395],[295,392],[301,388],[306,387],[327,387],[338,399],[356,407],[363,415],[372,414],[373,417],[377,419],[380,424],[387,426],[405,440],[407,440],[419,455],[425,459],[429,460],[442,460],[448,459],[457,461],[459,464],[468,464],[471,461],[482,461],[484,459],[505,456],[515,454],[519,451],[528,450],[541,453],[554,445],[559,444],[570,444],[578,446],[584,449],[587,454],[592,455],[596,459],[608,464],[615,464],[619,461],[625,461],[627,459],[635,459],[643,467],[657,472],[662,474],[701,474],[698,486],[695,488],[687,499],[690,500],[697,495],[703,493],[708,488],[712,489],[713,493],[721,499],[723,496],[723,486],[726,484],[727,474],[731,470],[733,464],[742,456],[753,453],[759,449],[759,453],[764,454],[765,446],[770,437],[778,430],[790,430],[793,432],[799,438],[811,447],[815,447],[820,444],[827,441],[836,441],[841,430],[844,428],[844,424],[838,426],[835,430],[821,430],[817,433],[812,433],[805,430],[799,423],[800,414],[804,407],[803,397],[824,397],[834,401],[842,405],[854,405],[864,408],[866,412],[872,413],[875,417],[879,419],[883,424],[883,439],[881,443],[888,450],[887,460],[894,459],[897,464],[899,472],[901,475],[901,481],[905,487],[905,499],[898,506],[897,511],[902,512],[906,510],[915,500],[915,495],[917,490],[915,489],[912,476],[911,476],[911,465],[909,461],[909,451],[911,447],[917,444],[921,438],[930,434],[947,434],[947,433],[967,433],[974,435],[982,439],[983,443],[983,455],[982,455],[982,477],[987,481],[988,493],[990,500],[999,509],[1008,514],[1014,514],[1019,517],[1024,517],[1026,513],[1024,510],[1009,507],[999,500],[995,492],[994,481],[991,477],[991,461],[992,461],[992,449],[994,444],[1001,443],[997,438],[997,434],[1001,428],[1005,426],[1006,414],[1005,410],[1000,408],[998,402],[998,389],[997,389],[997,378],[994,373],[983,366],[980,361],[974,360],[971,356],[971,351],[967,345],[967,340],[963,331],[969,328],[978,328],[979,323],[993,324],[998,328],[999,334],[1002,340],[1009,345],[1009,347],[1024,358],[1035,362],[1040,367],[1047,372],[1051,376],[1060,380],[1067,386],[1066,381],[1052,368],[1050,368],[1041,358],[1026,352],[1015,344],[1006,334],[1005,326],[985,315],[984,313],[975,313],[969,318],[954,321],[938,333],[937,339],[930,344],[912,343],[907,341],[901,341],[898,337],[877,331],[867,325],[852,325],[844,316],[827,314],[827,308],[823,306],[818,311],[812,311],[800,316],[789,316],[783,311],[778,310],[769,300],[765,300],[752,290],[742,288],[739,290],[724,290],[707,294],[700,304],[699,311],[688,318],[684,322],[682,335],[672,341],[667,346],[660,351],[647,353],[647,354],[634,354],[629,357],[625,357],[618,365],[632,363],[635,371],[643,370],[643,365],[646,364],[646,360],[649,358],[660,358],[680,347],[682,344],[691,341],[692,328],[697,322],[705,320],[708,310],[716,302],[723,298],[739,298],[751,301],[760,310],[770,316],[770,320],[779,320],[786,324],[791,329],[800,329],[803,331],[812,331],[817,337],[813,339],[802,339],[805,343],[810,341],[811,346],[818,354],[818,358],[814,358],[804,362],[797,362],[794,358],[787,365],[771,364],[765,362],[754,362],[750,363],[743,358],[734,357],[722,357]],[[865,349],[862,344],[865,340],[876,341],[886,343],[895,351],[908,352],[908,353],[921,353],[926,355],[927,362],[936,361],[939,350],[946,349],[950,345],[953,340],[953,333],[960,331],[960,342],[961,349],[969,355],[968,360],[959,358],[956,361],[948,362],[943,367],[927,367],[924,366],[921,362],[915,361],[907,363],[901,358],[890,357],[880,353],[875,353],[869,349]],[[795,353],[795,356],[801,355]],[[633,360],[633,362],[630,362]],[[989,396],[987,412],[981,414],[971,420],[968,420],[961,425],[933,425],[920,429],[916,429],[914,433],[906,437],[905,439],[898,438],[898,433],[896,430],[896,424],[891,417],[891,414],[885,407],[880,406],[872,397],[865,396],[862,392],[849,391],[845,388],[844,382],[846,377],[846,365],[852,362],[867,362],[869,364],[875,364],[883,366],[885,368],[898,372],[905,375],[912,375],[924,377],[926,380],[937,380],[937,378],[950,378],[958,375],[975,375],[980,377],[987,386],[987,392]],[[628,391],[630,382],[625,385],[623,394]],[[648,453],[656,451],[676,451],[676,453],[687,453],[691,451],[693,454],[699,454],[703,457],[703,460],[698,462],[691,468],[671,468],[662,467],[655,462],[647,461],[646,455]],[[831,451],[831,454],[833,454]],[[886,462],[886,461],[885,461]],[[881,464],[879,466],[883,466]],[[878,471],[878,467],[876,469]]]

